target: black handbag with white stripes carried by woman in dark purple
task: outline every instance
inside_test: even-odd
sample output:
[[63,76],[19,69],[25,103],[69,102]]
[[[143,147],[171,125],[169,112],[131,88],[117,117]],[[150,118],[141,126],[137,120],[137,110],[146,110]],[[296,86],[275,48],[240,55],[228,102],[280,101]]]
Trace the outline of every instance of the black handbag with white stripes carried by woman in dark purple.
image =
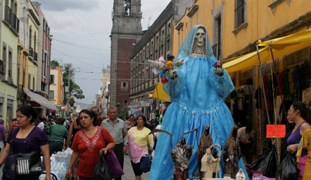
[[33,175],[43,172],[40,153],[17,153],[16,154],[16,174]]

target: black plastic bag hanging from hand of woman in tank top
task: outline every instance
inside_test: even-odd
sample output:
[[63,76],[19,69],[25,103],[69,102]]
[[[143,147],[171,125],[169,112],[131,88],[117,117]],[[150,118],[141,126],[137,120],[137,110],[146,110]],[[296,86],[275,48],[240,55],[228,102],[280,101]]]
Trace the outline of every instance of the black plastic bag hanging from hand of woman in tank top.
[[289,152],[286,153],[276,173],[277,180],[297,180],[300,170],[297,168],[295,158]]

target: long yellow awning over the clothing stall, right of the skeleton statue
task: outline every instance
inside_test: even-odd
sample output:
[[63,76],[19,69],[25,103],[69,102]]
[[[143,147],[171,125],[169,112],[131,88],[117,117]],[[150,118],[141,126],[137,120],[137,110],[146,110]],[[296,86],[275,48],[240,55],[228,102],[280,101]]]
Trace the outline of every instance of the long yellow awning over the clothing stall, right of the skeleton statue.
[[[296,33],[260,43],[258,46],[265,47],[259,51],[261,63],[272,60],[268,43],[271,43],[274,59],[282,58],[285,55],[295,53],[299,50],[311,46],[311,29],[305,32]],[[243,70],[258,64],[257,52],[252,52],[227,61],[228,62],[223,64],[223,67],[229,73]]]

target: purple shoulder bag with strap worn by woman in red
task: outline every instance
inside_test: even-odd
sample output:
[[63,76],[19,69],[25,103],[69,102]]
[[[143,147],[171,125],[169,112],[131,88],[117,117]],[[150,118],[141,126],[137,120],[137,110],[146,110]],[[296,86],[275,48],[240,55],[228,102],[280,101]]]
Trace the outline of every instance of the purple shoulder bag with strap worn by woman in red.
[[[105,140],[104,140],[104,134],[102,131],[102,128],[100,128],[100,132],[102,134],[102,138],[103,138],[103,142],[104,142],[104,146],[106,146]],[[110,151],[108,151],[105,154],[105,159],[108,165],[108,169],[110,171],[111,174],[111,178],[115,179],[115,178],[119,178],[122,175],[124,175],[123,169],[119,163],[119,160],[115,154],[115,152],[111,149]]]

